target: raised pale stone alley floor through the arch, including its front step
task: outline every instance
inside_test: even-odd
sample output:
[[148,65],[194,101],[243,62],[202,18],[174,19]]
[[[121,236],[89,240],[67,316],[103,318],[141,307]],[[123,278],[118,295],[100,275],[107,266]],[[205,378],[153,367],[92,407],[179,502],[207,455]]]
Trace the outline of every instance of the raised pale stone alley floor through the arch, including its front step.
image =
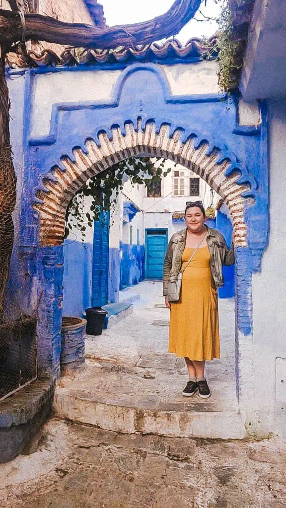
[[[207,362],[212,396],[186,398],[183,358],[167,353],[169,310],[162,284],[146,280],[122,292],[134,312],[87,336],[86,368],[61,379],[55,409],[106,430],[167,436],[242,437],[235,385],[234,300],[220,300],[221,359]],[[72,403],[71,403],[72,401]]]

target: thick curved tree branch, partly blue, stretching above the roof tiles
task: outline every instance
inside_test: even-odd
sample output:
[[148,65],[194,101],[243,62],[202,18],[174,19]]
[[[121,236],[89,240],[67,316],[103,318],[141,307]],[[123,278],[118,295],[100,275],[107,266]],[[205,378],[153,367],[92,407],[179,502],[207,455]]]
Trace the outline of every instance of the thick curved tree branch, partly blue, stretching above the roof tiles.
[[[130,25],[97,28],[80,23],[64,23],[49,16],[27,14],[26,40],[46,41],[65,46],[91,49],[130,48],[178,34],[201,5],[201,0],[175,0],[161,16]],[[22,25],[15,12],[0,10],[0,44],[12,45],[20,40]]]

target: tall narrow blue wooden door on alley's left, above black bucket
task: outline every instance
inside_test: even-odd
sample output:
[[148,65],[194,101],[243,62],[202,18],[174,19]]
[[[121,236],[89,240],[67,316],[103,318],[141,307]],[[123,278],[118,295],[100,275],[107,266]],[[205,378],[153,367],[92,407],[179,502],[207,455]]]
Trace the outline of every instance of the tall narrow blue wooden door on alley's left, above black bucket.
[[94,223],[92,306],[107,303],[108,291],[109,212],[101,212]]

